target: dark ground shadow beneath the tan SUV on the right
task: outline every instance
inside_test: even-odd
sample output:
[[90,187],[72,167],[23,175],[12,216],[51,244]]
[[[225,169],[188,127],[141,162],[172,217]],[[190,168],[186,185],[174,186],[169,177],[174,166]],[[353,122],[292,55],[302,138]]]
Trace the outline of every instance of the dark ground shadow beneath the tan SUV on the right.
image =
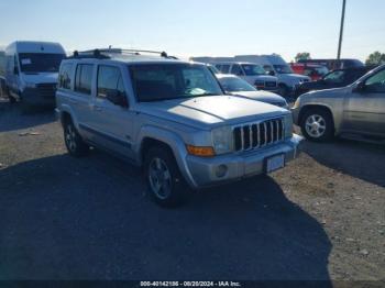
[[330,143],[306,141],[304,152],[329,168],[385,187],[385,145],[343,139]]

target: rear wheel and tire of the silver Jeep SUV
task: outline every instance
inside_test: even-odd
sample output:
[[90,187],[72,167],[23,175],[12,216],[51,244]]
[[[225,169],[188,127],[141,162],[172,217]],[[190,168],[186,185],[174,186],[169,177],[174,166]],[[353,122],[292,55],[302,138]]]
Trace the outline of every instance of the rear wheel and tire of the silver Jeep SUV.
[[77,132],[72,120],[67,120],[63,124],[64,142],[66,144],[69,155],[74,157],[86,156],[89,146],[82,141],[81,136]]

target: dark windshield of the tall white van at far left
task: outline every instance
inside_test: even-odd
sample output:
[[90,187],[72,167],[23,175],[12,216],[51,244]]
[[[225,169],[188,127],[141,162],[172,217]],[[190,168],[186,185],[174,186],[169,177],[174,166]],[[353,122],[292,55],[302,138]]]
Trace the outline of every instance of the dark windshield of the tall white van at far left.
[[64,54],[19,53],[22,73],[57,73]]

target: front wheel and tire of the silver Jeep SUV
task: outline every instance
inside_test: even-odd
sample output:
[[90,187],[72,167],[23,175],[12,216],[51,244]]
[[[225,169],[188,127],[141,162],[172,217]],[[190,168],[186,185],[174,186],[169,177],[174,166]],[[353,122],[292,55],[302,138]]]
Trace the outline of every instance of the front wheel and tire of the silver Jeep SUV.
[[184,204],[190,193],[168,147],[154,146],[144,159],[144,176],[153,201],[166,208]]

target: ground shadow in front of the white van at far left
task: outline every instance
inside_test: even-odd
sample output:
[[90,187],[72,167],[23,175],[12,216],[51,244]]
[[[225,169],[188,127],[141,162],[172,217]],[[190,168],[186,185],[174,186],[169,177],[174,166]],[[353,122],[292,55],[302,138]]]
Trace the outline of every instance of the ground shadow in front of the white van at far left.
[[20,103],[10,103],[0,99],[0,133],[30,129],[55,121],[52,108],[31,108],[22,111]]

